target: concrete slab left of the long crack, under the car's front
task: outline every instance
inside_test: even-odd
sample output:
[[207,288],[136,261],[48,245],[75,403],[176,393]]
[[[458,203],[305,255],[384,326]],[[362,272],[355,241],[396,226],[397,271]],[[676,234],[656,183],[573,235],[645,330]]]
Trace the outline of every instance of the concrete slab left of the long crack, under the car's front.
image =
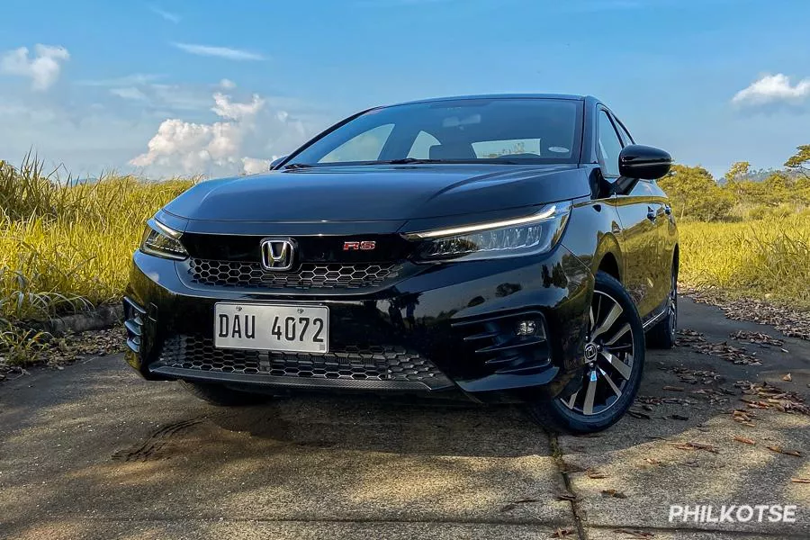
[[0,392],[4,537],[72,518],[573,528],[548,437],[515,409],[320,396],[223,410],[120,357]]

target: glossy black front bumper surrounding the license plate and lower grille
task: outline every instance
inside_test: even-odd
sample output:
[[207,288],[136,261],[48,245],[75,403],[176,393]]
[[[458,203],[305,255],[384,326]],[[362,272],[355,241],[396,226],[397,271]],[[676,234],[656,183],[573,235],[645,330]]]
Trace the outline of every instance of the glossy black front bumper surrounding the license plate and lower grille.
[[[413,266],[381,287],[201,286],[188,264],[137,252],[124,302],[127,361],[148,379],[253,390],[457,392],[482,401],[556,395],[584,364],[593,276],[565,247],[543,257]],[[329,306],[330,353],[213,347],[216,302]],[[545,339],[517,337],[536,320]]]

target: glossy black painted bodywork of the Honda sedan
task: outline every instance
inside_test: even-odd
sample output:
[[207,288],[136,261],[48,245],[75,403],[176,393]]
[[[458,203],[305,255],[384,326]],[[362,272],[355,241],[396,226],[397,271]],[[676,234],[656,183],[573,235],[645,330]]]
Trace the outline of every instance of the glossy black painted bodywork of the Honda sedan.
[[[160,378],[149,365],[162,341],[173,333],[211,336],[215,302],[294,301],[329,306],[336,347],[361,342],[412,347],[451,378],[453,390],[473,399],[557,395],[579,380],[576,375],[585,363],[582,349],[594,275],[600,269],[615,275],[643,320],[653,322],[665,305],[678,252],[675,221],[661,188],[641,177],[602,174],[597,114],[607,111],[612,121],[620,122],[595,98],[565,98],[584,103],[578,165],[278,170],[282,160],[266,175],[194,186],[156,214],[157,220],[184,233],[191,257],[257,261],[261,238],[283,236],[296,239],[302,261],[397,260],[404,270],[391,283],[370,289],[228,289],[193,284],[188,261],[136,252],[128,296],[147,315],[139,353],[130,352],[128,362],[143,376]],[[629,137],[622,141],[627,156],[663,159],[665,154],[639,151]],[[625,164],[622,170],[638,169]],[[572,213],[560,243],[541,256],[416,264],[409,260],[414,246],[401,237],[522,217],[558,201],[572,201]],[[374,240],[379,248],[343,251],[343,243],[351,240]],[[545,321],[545,363],[538,357],[532,365],[535,360],[527,356],[521,361],[527,365],[488,364],[464,339],[477,321],[526,312],[539,313]]]

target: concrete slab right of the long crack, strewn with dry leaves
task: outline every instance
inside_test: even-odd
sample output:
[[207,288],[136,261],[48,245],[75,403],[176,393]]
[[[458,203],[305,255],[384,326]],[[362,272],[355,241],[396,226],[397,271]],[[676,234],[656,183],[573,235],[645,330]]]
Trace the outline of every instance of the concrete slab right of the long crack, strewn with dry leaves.
[[[689,317],[690,313],[705,310],[687,304],[682,308],[682,320],[696,320]],[[763,331],[760,325],[728,322],[733,324],[718,324],[720,329],[716,330],[707,324],[699,329],[710,342],[727,340],[730,329]],[[737,381],[765,380],[806,396],[808,346],[790,339],[784,347],[746,346],[757,351],[761,365],[734,365],[687,347],[651,351],[639,392],[647,399],[638,401],[635,407],[643,415],[627,417],[595,437],[559,437],[563,462],[571,470],[572,491],[580,497],[585,524],[810,536],[810,485],[791,482],[793,478],[810,478],[810,417],[748,408],[740,401],[744,397],[740,390],[734,388]],[[781,348],[790,352],[783,353]],[[686,373],[713,371],[719,374],[720,381],[714,385],[684,383],[672,372],[673,366],[686,368]],[[792,382],[781,380],[791,372]],[[698,393],[721,386],[734,390],[734,395]],[[686,403],[658,402],[662,398]],[[748,410],[754,417],[752,426],[734,421],[734,409]],[[800,456],[779,454],[768,446],[798,451]],[[617,493],[611,496],[610,490]],[[669,521],[671,505],[713,505],[717,509],[724,504],[796,505],[797,520],[771,523],[765,518],[763,523],[754,519],[718,524],[696,524],[694,519],[686,523]],[[666,536],[655,533],[656,539],[661,537]]]

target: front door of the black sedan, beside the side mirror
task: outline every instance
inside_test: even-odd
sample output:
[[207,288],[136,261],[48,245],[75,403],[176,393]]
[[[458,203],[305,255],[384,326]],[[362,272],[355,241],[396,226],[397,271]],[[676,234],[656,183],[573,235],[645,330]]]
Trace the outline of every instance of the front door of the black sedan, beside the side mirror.
[[[598,114],[599,166],[608,182],[615,182],[619,177],[618,157],[623,143],[608,110],[599,107]],[[660,249],[653,196],[649,185],[643,181],[637,182],[629,193],[614,196],[622,225],[623,282],[644,319],[656,307],[654,290],[659,273]]]

